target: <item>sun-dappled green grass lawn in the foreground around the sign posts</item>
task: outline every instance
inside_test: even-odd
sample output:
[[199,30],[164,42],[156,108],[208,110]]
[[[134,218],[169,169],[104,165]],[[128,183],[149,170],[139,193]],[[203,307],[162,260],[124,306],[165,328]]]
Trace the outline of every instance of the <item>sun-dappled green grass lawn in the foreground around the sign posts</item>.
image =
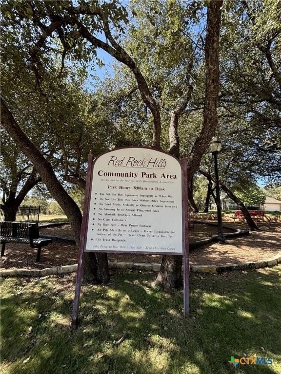
[[[82,286],[73,333],[74,279],[2,280],[1,373],[281,373],[281,265],[192,274],[189,319],[182,291],[161,292],[149,272],[116,271],[106,286]],[[243,355],[274,364],[228,363]]]

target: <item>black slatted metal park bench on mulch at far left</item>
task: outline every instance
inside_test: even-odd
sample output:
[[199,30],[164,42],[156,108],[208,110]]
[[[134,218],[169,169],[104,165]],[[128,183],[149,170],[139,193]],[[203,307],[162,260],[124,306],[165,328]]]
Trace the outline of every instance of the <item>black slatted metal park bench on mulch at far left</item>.
[[52,243],[52,239],[39,237],[38,224],[30,222],[0,222],[1,256],[4,255],[6,243],[29,244],[37,248],[36,261],[40,261],[41,247]]

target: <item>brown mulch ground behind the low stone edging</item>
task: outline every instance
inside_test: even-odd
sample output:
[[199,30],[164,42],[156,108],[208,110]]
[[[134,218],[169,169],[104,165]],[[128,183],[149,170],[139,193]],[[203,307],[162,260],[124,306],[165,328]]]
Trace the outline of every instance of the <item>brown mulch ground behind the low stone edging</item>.
[[[229,224],[232,227],[247,229],[244,223]],[[252,232],[248,236],[228,240],[225,244],[212,243],[195,249],[190,253],[190,263],[194,265],[227,264],[241,262],[255,262],[268,259],[281,251],[281,225],[259,224],[262,231]],[[225,232],[233,232],[225,229]],[[40,233],[45,235],[72,236],[71,227],[63,225],[59,227],[41,228]],[[191,241],[197,241],[215,236],[215,226],[207,224],[195,224],[195,230],[191,230]],[[1,258],[1,268],[39,268],[70,265],[77,263],[78,251],[74,244],[52,243],[42,248],[40,262],[36,262],[36,249],[19,243],[6,244],[5,255]],[[161,262],[159,255],[144,254],[109,254],[109,261],[125,262]]]

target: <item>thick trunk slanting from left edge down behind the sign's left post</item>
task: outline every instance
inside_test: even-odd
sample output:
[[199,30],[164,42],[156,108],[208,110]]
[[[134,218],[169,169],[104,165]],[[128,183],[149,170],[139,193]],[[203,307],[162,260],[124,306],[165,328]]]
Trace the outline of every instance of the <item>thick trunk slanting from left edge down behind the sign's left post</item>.
[[[82,222],[82,215],[79,207],[75,201],[68,195],[65,189],[60,184],[56,177],[56,174],[51,166],[51,164],[44,158],[40,151],[34,146],[34,144],[27,138],[27,136],[20,129],[20,126],[14,119],[12,113],[6,107],[4,101],[1,98],[1,123],[4,129],[10,134],[14,139],[15,143],[18,145],[19,149],[29,158],[34,167],[38,170],[43,183],[48,188],[51,195],[59,203],[61,209],[66,214],[71,228],[73,230],[76,245],[79,247],[80,242],[80,229]],[[90,262],[93,256],[85,254],[85,263]],[[106,268],[106,264],[104,265]],[[98,275],[88,274],[88,271],[94,269],[94,266],[84,267],[84,277],[85,279],[98,279]],[[103,272],[101,273],[101,275]],[[105,280],[108,280],[109,270],[107,263],[107,272]]]

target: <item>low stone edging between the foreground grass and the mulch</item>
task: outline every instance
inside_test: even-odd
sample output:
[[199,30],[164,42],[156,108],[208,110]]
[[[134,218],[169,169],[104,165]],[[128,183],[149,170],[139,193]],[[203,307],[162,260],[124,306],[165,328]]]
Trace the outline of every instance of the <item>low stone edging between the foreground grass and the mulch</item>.
[[[275,266],[281,263],[281,252],[267,260],[257,262],[230,263],[226,265],[190,265],[190,271],[193,273],[223,273],[233,270],[260,269],[263,267]],[[151,270],[158,272],[161,263],[143,263],[143,262],[109,262],[112,269],[137,269]],[[77,271],[77,264],[50,267],[46,269],[4,269],[0,270],[1,277],[45,277],[48,275],[61,275],[74,273]]]

